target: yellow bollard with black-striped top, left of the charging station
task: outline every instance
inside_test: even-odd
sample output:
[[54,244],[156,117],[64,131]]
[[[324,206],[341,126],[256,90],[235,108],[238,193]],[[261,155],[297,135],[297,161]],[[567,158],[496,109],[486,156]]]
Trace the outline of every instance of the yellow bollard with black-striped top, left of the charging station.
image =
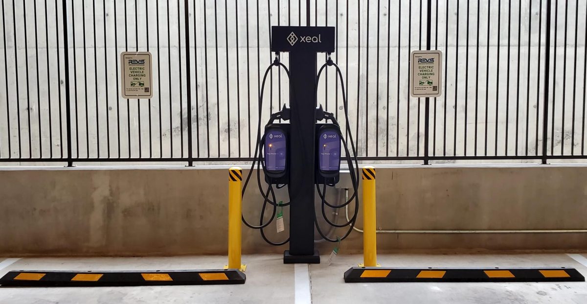
[[228,169],[228,269],[245,271],[241,264],[242,169]]

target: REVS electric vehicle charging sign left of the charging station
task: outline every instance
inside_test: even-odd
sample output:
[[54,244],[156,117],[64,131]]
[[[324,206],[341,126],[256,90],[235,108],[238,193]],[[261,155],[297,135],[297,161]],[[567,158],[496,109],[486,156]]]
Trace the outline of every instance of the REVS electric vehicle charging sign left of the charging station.
[[152,98],[153,78],[150,52],[120,53],[123,98]]

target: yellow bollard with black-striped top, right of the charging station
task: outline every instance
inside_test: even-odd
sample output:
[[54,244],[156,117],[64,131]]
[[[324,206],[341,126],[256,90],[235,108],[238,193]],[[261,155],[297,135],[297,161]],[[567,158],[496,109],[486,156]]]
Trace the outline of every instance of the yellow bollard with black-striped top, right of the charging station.
[[375,168],[363,168],[363,267],[377,267]]

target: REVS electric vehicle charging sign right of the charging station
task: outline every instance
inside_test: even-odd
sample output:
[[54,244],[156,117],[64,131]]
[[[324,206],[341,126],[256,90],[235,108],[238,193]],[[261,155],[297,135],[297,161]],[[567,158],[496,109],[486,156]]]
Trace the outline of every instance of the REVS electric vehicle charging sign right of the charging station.
[[417,50],[411,52],[411,97],[438,97],[442,94],[442,52]]

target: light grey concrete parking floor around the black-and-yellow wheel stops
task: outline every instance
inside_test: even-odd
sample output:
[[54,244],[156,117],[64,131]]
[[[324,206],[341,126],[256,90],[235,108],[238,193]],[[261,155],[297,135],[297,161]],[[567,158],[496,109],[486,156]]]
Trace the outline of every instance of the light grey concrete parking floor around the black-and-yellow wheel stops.
[[[579,256],[586,258],[587,254]],[[281,255],[246,255],[247,283],[217,286],[0,288],[0,303],[587,303],[587,283],[348,283],[342,276],[360,255],[339,255],[331,265],[284,265]],[[222,256],[161,258],[22,258],[0,269],[153,270],[221,268]],[[566,254],[379,255],[393,267],[575,267]],[[587,259],[583,260],[587,261]],[[0,265],[2,259],[0,259]],[[0,268],[2,268],[0,266]],[[301,278],[301,279],[300,279]],[[311,284],[310,284],[311,283]],[[311,285],[311,287],[310,287]],[[311,291],[311,293],[310,293]],[[297,296],[297,298],[296,298]]]

